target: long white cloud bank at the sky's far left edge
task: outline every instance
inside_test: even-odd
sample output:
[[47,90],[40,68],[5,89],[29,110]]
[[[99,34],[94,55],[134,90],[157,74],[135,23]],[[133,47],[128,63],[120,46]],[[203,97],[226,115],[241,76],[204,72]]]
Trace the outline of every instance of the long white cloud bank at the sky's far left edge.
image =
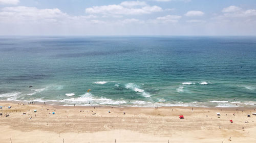
[[0,23],[68,23],[89,22],[95,15],[70,16],[59,9],[37,9],[35,7],[5,7],[0,11]]

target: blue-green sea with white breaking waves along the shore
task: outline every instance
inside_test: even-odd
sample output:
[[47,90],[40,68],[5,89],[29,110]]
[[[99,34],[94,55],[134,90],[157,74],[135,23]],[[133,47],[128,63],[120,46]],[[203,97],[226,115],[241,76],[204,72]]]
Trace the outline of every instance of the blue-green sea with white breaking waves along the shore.
[[256,106],[256,37],[1,36],[0,100]]

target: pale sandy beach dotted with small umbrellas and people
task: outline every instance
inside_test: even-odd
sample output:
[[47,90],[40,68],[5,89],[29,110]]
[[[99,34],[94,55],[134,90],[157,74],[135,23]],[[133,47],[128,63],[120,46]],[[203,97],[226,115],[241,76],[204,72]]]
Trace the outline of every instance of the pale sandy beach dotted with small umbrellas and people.
[[0,142],[256,140],[254,108],[57,106],[3,101],[0,106]]

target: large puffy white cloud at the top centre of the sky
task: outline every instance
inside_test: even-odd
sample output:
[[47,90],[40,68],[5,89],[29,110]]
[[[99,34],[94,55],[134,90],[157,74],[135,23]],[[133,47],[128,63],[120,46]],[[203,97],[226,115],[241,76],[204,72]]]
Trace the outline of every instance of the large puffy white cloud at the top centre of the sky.
[[[135,6],[139,6],[139,8],[134,8]],[[148,6],[146,3],[139,1],[122,2],[120,5],[94,6],[86,9],[86,13],[89,14],[102,14],[111,16],[150,14],[161,11],[163,11],[163,9],[158,6]]]

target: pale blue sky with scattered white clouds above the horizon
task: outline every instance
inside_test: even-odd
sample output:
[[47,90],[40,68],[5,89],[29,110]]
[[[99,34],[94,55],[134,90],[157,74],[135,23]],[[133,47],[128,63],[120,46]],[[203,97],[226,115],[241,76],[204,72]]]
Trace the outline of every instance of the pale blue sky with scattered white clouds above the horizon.
[[256,36],[256,1],[0,0],[0,35]]

